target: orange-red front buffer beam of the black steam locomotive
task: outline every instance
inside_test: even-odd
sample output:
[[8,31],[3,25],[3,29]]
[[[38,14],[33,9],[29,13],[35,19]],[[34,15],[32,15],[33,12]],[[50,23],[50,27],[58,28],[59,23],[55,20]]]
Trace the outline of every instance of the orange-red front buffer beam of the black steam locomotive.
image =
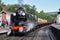
[[8,32],[7,36],[15,35],[15,34],[25,34],[27,30],[27,26],[12,26]]

